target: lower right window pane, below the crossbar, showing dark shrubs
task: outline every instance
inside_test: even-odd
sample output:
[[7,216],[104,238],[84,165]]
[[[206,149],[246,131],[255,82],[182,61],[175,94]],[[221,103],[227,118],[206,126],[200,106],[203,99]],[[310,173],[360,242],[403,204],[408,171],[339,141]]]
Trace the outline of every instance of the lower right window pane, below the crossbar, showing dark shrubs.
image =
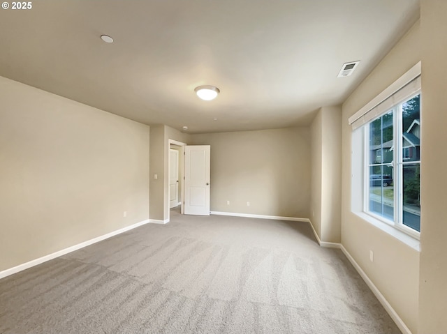
[[420,231],[420,164],[404,165],[403,176],[404,225]]

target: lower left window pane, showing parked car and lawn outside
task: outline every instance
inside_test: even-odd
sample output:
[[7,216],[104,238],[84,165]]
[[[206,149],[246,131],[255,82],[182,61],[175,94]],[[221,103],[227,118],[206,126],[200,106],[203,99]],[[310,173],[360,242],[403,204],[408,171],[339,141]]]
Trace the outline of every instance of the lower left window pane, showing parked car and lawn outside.
[[369,167],[369,211],[394,220],[393,172],[388,166]]

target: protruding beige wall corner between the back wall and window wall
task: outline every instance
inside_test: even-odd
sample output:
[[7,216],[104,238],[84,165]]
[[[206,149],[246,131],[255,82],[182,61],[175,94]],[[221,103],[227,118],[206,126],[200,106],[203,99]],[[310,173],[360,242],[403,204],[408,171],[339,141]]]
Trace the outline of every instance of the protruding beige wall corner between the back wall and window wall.
[[321,241],[331,243],[341,236],[341,128],[341,107],[322,107],[311,124],[311,222]]

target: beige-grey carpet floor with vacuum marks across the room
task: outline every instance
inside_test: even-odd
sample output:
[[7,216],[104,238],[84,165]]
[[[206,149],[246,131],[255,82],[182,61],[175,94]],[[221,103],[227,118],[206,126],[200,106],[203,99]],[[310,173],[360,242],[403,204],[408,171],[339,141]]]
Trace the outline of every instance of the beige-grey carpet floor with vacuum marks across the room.
[[171,211],[0,280],[0,333],[400,333],[303,222]]

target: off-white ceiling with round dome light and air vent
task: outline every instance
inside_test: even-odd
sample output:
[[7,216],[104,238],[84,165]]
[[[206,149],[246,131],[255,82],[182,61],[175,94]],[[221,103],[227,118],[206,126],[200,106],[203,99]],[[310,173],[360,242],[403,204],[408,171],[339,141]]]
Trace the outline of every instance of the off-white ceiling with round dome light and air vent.
[[[318,107],[342,103],[419,17],[419,0],[32,4],[0,10],[0,75],[191,133],[308,124]],[[357,60],[351,77],[337,78]],[[219,87],[218,98],[199,100],[201,84]]]

